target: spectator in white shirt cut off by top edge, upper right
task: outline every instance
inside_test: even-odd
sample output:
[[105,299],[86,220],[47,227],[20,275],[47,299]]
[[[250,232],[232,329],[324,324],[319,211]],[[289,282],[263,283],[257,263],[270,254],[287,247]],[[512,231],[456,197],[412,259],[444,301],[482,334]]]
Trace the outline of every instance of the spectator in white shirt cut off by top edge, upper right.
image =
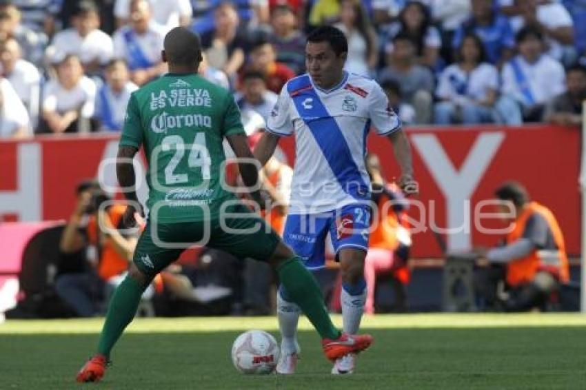
[[565,6],[550,0],[499,0],[501,9],[511,17],[515,32],[523,27],[539,30],[547,43],[547,53],[563,63],[576,59],[574,21]]

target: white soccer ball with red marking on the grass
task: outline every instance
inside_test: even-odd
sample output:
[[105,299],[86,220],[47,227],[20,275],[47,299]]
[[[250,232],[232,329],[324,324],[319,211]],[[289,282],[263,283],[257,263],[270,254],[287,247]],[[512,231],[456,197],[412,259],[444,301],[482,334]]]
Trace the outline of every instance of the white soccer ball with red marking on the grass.
[[279,361],[279,345],[265,331],[246,331],[232,345],[232,362],[241,373],[272,373]]

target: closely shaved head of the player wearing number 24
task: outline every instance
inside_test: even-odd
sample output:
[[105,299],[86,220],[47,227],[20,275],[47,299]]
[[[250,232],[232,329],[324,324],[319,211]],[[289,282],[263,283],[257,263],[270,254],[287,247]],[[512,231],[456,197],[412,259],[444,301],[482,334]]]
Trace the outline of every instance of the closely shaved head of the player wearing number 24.
[[200,63],[201,39],[199,35],[185,27],[176,27],[165,35],[163,41],[165,56],[172,65],[192,66]]

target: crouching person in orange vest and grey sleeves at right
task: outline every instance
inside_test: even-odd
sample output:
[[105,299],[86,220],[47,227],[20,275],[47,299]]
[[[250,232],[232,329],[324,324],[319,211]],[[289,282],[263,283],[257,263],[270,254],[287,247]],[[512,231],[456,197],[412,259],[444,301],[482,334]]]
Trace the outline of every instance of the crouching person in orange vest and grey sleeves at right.
[[[507,182],[496,189],[495,195],[503,201],[499,211],[510,217],[512,225],[504,245],[483,254],[481,263],[490,265],[492,270],[485,271],[485,278],[477,278],[478,291],[488,300],[496,298],[505,311],[543,308],[552,292],[569,281],[561,229],[554,214],[531,201],[523,185]],[[496,296],[490,287],[495,285],[498,266],[508,288],[502,297]]]

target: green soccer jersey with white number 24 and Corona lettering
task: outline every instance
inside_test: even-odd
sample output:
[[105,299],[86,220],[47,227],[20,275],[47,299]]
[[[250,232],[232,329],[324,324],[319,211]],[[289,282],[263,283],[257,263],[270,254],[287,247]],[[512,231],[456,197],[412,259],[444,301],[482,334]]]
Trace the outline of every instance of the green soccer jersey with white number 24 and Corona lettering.
[[196,74],[166,74],[132,93],[120,145],[144,147],[151,218],[214,218],[235,198],[223,184],[231,134],[245,134],[232,94]]

